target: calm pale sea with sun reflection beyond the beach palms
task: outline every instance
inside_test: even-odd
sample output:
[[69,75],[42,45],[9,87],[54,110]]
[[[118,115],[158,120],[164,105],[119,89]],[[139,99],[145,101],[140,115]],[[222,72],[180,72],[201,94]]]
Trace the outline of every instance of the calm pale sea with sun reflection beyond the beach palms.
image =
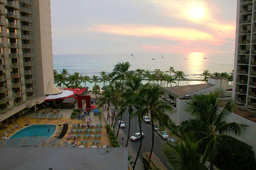
[[[54,55],[53,67],[57,71],[66,68],[69,73],[79,72],[81,75],[100,75],[101,71],[107,73],[112,72],[115,64],[120,61],[129,61],[131,70],[161,69],[167,71],[169,67],[173,67],[176,71],[183,71],[188,79],[202,79],[201,74],[204,70],[213,72],[231,73],[234,69],[233,54],[95,54],[95,55]],[[152,59],[155,60],[152,60]],[[205,59],[206,58],[206,59]],[[180,85],[198,84],[201,81],[181,81]],[[102,85],[102,83],[98,83]],[[87,86],[92,88],[91,83]]]

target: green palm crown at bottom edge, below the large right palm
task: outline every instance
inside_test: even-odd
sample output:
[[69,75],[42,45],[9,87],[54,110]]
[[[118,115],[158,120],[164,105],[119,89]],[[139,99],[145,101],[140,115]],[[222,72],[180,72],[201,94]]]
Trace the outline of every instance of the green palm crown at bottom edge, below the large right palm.
[[175,144],[166,144],[163,153],[174,170],[208,170],[203,162],[205,158],[200,155],[198,142],[188,137]]

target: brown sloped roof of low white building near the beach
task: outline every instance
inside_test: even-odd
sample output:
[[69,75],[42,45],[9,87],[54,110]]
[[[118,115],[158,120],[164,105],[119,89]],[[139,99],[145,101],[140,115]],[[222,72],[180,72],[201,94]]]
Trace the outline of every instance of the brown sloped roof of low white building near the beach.
[[182,95],[187,95],[205,88],[210,88],[214,86],[213,84],[195,84],[195,85],[186,85],[186,86],[174,86],[174,87],[165,87],[168,92],[180,97]]

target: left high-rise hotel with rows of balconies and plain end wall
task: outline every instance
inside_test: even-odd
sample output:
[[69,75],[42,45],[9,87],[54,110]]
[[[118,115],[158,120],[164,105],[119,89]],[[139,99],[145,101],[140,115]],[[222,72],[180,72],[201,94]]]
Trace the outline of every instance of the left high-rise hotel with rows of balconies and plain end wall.
[[50,0],[0,0],[0,122],[44,102],[53,81]]

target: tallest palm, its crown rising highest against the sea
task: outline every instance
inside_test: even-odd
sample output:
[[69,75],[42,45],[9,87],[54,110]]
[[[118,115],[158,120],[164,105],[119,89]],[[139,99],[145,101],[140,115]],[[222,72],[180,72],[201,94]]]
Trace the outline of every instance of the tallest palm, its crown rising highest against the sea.
[[[113,69],[113,73],[115,77],[113,80],[121,80],[122,87],[121,92],[124,93],[124,77],[129,74],[129,68],[131,67],[130,62],[119,62],[115,65],[115,68]],[[123,102],[123,97],[122,97]],[[122,122],[123,114],[121,115],[120,121]],[[118,130],[117,130],[117,137],[119,133],[121,123],[119,123]]]

